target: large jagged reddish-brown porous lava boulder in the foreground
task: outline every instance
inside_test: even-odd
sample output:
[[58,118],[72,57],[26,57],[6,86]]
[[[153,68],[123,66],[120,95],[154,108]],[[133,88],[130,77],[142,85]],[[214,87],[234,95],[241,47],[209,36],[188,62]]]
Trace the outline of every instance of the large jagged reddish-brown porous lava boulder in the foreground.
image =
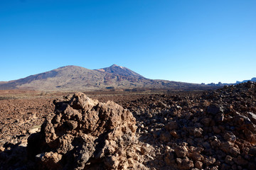
[[53,103],[55,115],[28,138],[36,169],[146,169],[136,160],[141,149],[130,111],[82,93]]

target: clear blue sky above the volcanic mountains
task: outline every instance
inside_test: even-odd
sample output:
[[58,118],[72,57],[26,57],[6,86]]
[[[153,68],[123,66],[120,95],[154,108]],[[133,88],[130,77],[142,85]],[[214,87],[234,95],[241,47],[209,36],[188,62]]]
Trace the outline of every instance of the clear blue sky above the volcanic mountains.
[[112,64],[191,83],[256,77],[256,1],[0,0],[0,81]]

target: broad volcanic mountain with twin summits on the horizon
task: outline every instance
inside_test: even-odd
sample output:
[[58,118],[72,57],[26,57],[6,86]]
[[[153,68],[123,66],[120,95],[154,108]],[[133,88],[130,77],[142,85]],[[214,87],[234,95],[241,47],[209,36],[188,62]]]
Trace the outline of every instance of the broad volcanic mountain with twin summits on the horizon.
[[49,72],[0,84],[0,89],[33,89],[41,91],[97,91],[104,89],[207,89],[208,86],[177,81],[146,79],[126,67],[113,64],[103,69],[65,66]]

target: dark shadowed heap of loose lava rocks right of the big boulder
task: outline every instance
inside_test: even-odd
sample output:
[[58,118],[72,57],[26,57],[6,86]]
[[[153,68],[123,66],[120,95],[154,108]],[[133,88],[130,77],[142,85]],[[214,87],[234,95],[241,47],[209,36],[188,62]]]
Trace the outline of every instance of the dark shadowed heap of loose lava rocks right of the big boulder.
[[[147,102],[145,102],[147,101]],[[126,103],[151,169],[256,169],[256,84],[203,95],[151,95]]]

